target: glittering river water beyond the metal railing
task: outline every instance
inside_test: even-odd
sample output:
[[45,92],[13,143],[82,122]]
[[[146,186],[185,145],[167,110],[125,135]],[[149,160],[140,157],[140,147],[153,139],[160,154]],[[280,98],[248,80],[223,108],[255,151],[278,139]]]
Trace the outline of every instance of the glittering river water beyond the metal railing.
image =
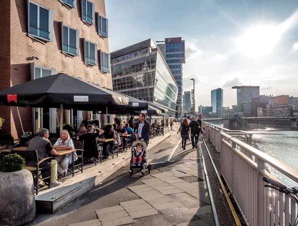
[[[223,126],[223,123],[213,123]],[[285,162],[298,170],[298,129],[291,127],[268,127],[253,131],[254,147]],[[272,167],[269,171],[289,187],[298,186],[293,180],[282,175]]]

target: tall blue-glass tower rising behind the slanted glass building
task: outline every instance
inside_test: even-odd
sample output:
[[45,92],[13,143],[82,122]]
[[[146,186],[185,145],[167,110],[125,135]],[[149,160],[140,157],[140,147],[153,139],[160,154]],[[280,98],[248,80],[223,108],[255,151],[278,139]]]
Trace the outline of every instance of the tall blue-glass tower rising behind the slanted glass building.
[[185,44],[181,37],[165,38],[158,44],[166,62],[177,82],[178,96],[175,117],[183,116],[183,64],[185,64]]

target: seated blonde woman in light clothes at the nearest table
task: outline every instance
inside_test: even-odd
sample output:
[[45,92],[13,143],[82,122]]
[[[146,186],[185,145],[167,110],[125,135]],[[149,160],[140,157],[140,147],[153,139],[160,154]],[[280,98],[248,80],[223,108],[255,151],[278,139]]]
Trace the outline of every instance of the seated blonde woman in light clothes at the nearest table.
[[[71,139],[71,136],[69,132],[64,129],[61,132],[60,138],[56,141],[54,144],[54,149],[56,150],[71,150],[74,149],[74,142]],[[77,155],[74,151],[74,161],[76,161]],[[65,154],[65,155],[59,155],[55,157],[55,160],[58,162],[57,164],[57,171],[60,173],[60,176],[58,178],[64,178],[67,175],[68,166],[73,163],[73,154]]]

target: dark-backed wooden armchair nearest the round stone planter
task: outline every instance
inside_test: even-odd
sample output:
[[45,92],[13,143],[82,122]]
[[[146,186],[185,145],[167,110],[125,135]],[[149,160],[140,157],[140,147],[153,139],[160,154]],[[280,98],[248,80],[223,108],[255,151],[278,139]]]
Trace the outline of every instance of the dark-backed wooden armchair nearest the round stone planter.
[[[36,190],[36,195],[38,195],[38,181],[39,179],[43,181],[49,188],[51,188],[51,165],[52,162],[47,162],[47,160],[52,159],[53,157],[47,157],[43,158],[41,160],[38,160],[37,150],[27,150],[27,151],[16,151],[12,150],[11,153],[16,153],[20,156],[22,156],[25,161],[25,169],[28,169],[33,176],[33,180],[36,180],[36,186],[34,189]],[[49,170],[50,176],[42,178],[41,175]],[[36,178],[34,178],[36,177]],[[49,179],[49,182],[48,182]]]

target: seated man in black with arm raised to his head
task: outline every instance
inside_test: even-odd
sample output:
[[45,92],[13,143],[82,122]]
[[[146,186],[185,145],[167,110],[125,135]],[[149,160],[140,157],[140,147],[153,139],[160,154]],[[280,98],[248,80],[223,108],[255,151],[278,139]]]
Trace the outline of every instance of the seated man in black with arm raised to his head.
[[[99,133],[93,133],[94,130],[98,130]],[[87,126],[87,132],[77,137],[78,140],[84,141],[84,158],[98,159],[98,148],[96,138],[100,136],[104,131],[100,128],[94,127],[94,125]]]

